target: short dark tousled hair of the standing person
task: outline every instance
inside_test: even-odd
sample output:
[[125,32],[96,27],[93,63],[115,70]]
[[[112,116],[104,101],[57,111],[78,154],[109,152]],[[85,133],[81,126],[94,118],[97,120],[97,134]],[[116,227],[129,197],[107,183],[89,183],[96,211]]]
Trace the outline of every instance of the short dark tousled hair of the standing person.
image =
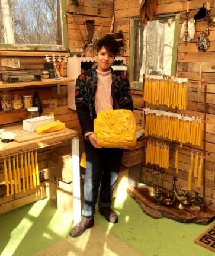
[[118,55],[119,52],[119,46],[117,41],[115,40],[115,37],[111,36],[110,34],[107,34],[106,36],[102,37],[97,42],[97,53],[102,49],[102,47],[105,47],[107,52],[113,53],[114,56]]

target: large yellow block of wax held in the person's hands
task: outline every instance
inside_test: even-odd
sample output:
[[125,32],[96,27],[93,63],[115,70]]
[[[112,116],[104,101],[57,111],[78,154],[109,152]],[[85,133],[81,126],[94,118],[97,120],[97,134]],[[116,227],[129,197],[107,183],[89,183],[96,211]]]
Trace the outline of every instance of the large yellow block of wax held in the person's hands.
[[131,110],[104,110],[94,120],[95,136],[104,148],[135,146],[136,132],[136,120]]

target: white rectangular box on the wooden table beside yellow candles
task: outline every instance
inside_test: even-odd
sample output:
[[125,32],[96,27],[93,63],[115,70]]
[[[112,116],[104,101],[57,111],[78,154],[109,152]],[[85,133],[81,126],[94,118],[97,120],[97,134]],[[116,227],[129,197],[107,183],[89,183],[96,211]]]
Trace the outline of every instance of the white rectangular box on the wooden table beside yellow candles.
[[54,120],[53,116],[41,116],[34,117],[33,119],[25,119],[23,120],[23,130],[26,130],[27,132],[34,132],[37,127],[52,123]]

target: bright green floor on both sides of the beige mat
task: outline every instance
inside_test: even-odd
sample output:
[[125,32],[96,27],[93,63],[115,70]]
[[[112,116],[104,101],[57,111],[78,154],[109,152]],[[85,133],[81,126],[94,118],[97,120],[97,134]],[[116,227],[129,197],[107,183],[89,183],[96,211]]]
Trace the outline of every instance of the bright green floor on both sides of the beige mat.
[[[116,225],[108,223],[98,213],[95,223],[147,256],[214,255],[193,242],[212,223],[203,226],[153,219],[126,194],[117,197],[114,207],[120,219]],[[0,216],[0,255],[32,255],[68,236],[71,227],[72,216],[59,212],[49,199],[5,213]]]

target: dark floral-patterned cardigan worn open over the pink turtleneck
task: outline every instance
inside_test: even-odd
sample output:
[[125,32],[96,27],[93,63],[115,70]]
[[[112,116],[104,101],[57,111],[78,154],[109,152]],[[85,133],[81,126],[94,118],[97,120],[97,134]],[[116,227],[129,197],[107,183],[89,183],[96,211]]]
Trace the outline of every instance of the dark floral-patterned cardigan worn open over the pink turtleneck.
[[[95,92],[97,91],[97,67],[85,71],[76,79],[75,104],[82,133],[93,132],[95,112]],[[113,109],[124,108],[133,111],[133,101],[130,94],[129,80],[123,73],[112,73],[111,95],[113,98]]]

